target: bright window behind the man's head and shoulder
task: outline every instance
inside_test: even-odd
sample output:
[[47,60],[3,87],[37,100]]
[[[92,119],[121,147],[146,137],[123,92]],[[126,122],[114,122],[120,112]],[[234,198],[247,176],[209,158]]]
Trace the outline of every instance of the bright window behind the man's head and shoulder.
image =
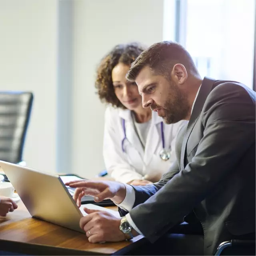
[[182,44],[202,77],[252,88],[256,0],[166,0],[165,8],[170,2],[176,32],[166,32],[164,40]]

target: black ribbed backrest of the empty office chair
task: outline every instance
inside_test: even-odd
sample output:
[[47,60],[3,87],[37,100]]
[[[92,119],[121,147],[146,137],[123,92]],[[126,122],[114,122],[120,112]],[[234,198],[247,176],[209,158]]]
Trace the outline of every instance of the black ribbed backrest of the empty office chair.
[[0,91],[0,160],[22,161],[32,102],[31,92]]

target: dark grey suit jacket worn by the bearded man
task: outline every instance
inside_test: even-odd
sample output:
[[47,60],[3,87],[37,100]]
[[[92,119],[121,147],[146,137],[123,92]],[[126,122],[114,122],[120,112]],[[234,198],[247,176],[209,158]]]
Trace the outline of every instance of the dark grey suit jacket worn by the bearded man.
[[142,234],[155,242],[194,211],[212,255],[232,236],[255,232],[255,132],[255,92],[204,78],[176,163],[158,183],[133,186],[130,216]]

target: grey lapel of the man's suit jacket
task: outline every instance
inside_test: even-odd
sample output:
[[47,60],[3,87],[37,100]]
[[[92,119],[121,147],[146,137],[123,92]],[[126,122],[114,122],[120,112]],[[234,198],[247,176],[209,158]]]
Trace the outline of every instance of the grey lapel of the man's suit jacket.
[[188,138],[196,124],[196,121],[198,120],[198,117],[199,117],[199,115],[202,111],[202,108],[204,106],[204,102],[206,101],[206,98],[208,97],[210,91],[212,90],[214,81],[215,81],[214,79],[205,77],[202,82],[202,86],[200,88],[196,102],[194,104],[194,108],[191,113],[191,117],[188,122],[186,133],[185,133],[185,136],[184,136],[184,139],[182,142],[182,148],[181,148],[181,154],[180,154],[180,170],[184,169],[184,160],[185,160],[184,158],[185,158],[185,152],[186,152]]

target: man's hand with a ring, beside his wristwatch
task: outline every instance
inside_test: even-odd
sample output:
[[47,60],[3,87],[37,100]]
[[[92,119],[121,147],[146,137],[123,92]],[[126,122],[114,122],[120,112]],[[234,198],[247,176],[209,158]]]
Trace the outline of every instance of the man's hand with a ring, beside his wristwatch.
[[80,228],[86,232],[89,242],[118,242],[126,239],[120,231],[121,218],[109,212],[84,208],[88,214],[81,218]]

